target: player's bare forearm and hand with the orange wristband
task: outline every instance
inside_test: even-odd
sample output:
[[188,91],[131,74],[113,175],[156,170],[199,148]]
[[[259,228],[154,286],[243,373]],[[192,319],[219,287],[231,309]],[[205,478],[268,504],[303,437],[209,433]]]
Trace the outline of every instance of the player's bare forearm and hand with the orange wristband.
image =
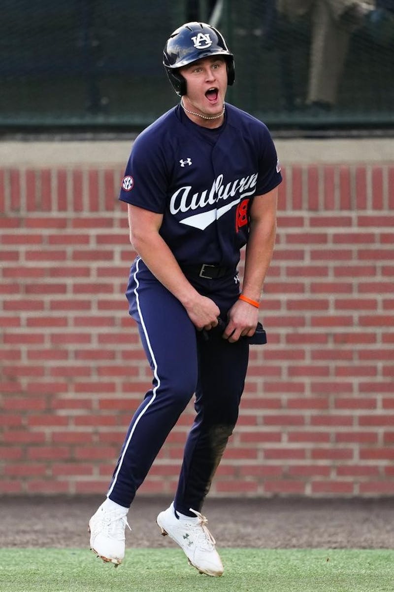
[[[253,198],[250,206],[250,230],[245,253],[242,294],[260,302],[266,273],[271,263],[276,235],[276,203],[278,188]],[[229,323],[223,337],[230,342],[240,336],[252,336],[256,329],[259,309],[237,300],[229,311]]]

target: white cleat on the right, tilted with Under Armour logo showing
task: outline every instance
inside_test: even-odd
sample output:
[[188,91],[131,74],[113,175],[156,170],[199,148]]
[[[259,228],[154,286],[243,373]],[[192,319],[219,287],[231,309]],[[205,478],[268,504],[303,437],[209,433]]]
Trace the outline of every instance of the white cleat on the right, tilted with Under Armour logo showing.
[[215,549],[215,539],[206,527],[205,516],[190,508],[196,518],[189,521],[175,516],[174,504],[160,512],[157,524],[163,536],[168,535],[185,552],[190,565],[200,574],[219,576],[223,574],[223,564]]

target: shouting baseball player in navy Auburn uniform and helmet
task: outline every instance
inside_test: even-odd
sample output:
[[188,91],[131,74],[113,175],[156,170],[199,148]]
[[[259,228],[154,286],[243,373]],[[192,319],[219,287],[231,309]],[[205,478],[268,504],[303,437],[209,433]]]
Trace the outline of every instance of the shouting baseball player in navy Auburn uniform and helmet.
[[201,508],[238,417],[281,173],[266,126],[224,102],[235,68],[219,31],[184,24],[165,44],[163,63],[181,99],[136,139],[119,196],[137,253],[126,296],[152,388],[90,519],[90,546],[104,561],[121,563],[136,490],[195,395],[177,491],[157,524],[191,565],[218,576],[223,565]]

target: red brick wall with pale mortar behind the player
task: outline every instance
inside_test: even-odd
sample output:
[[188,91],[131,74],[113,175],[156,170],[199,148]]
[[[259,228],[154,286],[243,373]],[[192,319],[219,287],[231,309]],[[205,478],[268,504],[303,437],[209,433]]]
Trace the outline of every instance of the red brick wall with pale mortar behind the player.
[[[0,491],[105,493],[150,371],[121,168],[0,170]],[[285,166],[239,423],[213,495],[394,494],[394,166]],[[191,406],[141,494],[172,493]]]

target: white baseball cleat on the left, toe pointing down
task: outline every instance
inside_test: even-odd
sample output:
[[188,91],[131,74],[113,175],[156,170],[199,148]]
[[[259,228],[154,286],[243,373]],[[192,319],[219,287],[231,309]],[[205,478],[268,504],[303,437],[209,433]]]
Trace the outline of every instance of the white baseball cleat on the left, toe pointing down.
[[106,510],[100,506],[89,520],[90,548],[115,567],[125,557],[125,528],[130,528],[126,516],[127,510]]

